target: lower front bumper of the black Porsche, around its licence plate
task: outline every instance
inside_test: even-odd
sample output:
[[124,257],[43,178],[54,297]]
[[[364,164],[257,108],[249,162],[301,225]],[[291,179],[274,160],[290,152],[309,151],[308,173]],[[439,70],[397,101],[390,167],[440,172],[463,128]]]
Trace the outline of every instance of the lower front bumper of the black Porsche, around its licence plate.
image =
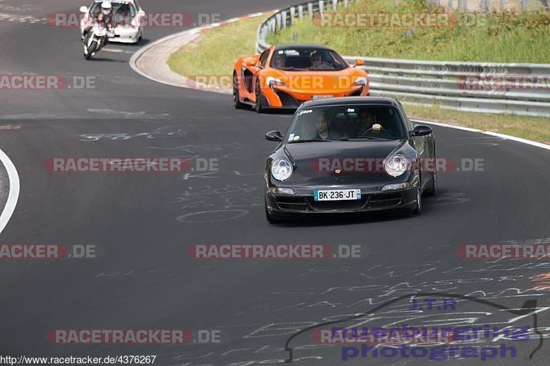
[[[318,187],[317,189],[348,189],[349,187]],[[296,192],[290,194],[272,194],[265,192],[267,210],[272,216],[285,214],[327,214],[380,211],[414,207],[417,186],[390,192],[375,192],[361,189],[361,199],[354,201],[314,201],[313,190],[309,194]]]

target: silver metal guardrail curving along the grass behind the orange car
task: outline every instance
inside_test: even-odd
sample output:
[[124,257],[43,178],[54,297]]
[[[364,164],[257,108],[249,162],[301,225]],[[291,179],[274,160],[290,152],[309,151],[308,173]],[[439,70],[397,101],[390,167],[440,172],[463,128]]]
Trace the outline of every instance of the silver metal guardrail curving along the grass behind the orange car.
[[[292,26],[296,19],[335,11],[352,0],[310,1],[275,12],[259,25],[256,52],[270,45],[270,32]],[[477,113],[512,113],[550,117],[550,64],[449,62],[362,58],[369,72],[371,95],[408,104]]]

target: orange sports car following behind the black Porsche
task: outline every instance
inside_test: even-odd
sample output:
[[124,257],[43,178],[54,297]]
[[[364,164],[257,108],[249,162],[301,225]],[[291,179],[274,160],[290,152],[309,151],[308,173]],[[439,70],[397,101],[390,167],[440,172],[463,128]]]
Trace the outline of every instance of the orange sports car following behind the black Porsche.
[[[364,60],[355,60],[355,66]],[[298,108],[307,100],[369,95],[369,76],[322,45],[277,45],[244,56],[233,70],[235,108]]]

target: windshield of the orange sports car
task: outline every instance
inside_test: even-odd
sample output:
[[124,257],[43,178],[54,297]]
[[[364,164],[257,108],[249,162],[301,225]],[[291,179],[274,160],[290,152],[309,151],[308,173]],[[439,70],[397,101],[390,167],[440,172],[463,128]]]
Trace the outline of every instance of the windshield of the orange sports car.
[[344,59],[332,49],[317,47],[289,47],[276,49],[270,67],[281,70],[338,71],[348,67]]

